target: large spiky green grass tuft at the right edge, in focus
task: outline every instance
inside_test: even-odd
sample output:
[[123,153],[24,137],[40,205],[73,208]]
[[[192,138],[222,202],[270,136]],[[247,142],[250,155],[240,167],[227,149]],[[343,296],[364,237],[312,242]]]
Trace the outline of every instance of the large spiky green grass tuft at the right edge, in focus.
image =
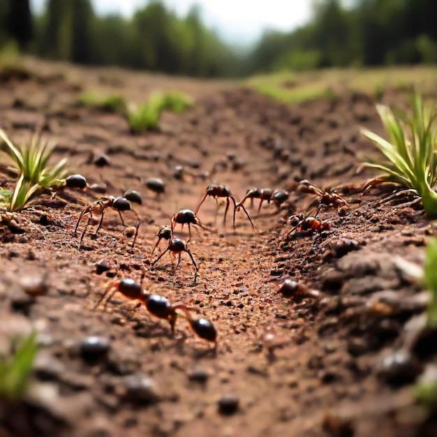
[[419,94],[411,96],[411,114],[394,112],[385,105],[376,109],[383,121],[388,140],[367,129],[369,138],[386,161],[367,159],[362,166],[375,168],[382,175],[371,179],[364,188],[394,182],[422,199],[425,214],[437,218],[437,193],[434,191],[437,171],[437,105],[425,104]]

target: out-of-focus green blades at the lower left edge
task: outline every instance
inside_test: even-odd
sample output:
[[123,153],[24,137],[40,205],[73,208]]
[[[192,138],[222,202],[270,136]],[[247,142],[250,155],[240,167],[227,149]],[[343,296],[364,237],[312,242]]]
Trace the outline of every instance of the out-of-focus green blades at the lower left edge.
[[36,333],[33,332],[22,339],[13,339],[11,346],[13,355],[0,357],[0,399],[17,400],[26,392],[29,375],[38,353]]

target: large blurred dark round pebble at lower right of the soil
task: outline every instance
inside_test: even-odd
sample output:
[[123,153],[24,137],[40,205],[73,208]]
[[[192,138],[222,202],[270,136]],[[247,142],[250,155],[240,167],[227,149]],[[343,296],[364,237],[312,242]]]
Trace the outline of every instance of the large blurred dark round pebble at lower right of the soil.
[[387,355],[378,365],[378,376],[390,385],[413,383],[422,373],[423,366],[407,350],[397,350]]

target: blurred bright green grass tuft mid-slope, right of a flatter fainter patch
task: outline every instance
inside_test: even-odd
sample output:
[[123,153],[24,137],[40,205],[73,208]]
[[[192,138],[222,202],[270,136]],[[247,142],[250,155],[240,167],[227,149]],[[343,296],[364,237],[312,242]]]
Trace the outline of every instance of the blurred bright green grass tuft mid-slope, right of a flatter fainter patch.
[[126,112],[126,119],[133,133],[145,131],[158,131],[159,121],[163,111],[181,114],[191,108],[193,101],[186,94],[173,91],[169,93],[156,93],[142,105],[131,106]]

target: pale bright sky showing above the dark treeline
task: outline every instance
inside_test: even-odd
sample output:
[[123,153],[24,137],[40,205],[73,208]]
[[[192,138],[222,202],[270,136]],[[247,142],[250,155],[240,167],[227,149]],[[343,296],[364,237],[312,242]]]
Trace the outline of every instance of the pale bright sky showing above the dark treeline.
[[[31,0],[36,12],[43,10],[46,0]],[[91,0],[94,10],[104,15],[121,13],[130,17],[146,0]],[[290,31],[311,17],[311,0],[165,0],[178,15],[185,15],[198,4],[208,27],[238,45],[255,42],[264,29]]]

